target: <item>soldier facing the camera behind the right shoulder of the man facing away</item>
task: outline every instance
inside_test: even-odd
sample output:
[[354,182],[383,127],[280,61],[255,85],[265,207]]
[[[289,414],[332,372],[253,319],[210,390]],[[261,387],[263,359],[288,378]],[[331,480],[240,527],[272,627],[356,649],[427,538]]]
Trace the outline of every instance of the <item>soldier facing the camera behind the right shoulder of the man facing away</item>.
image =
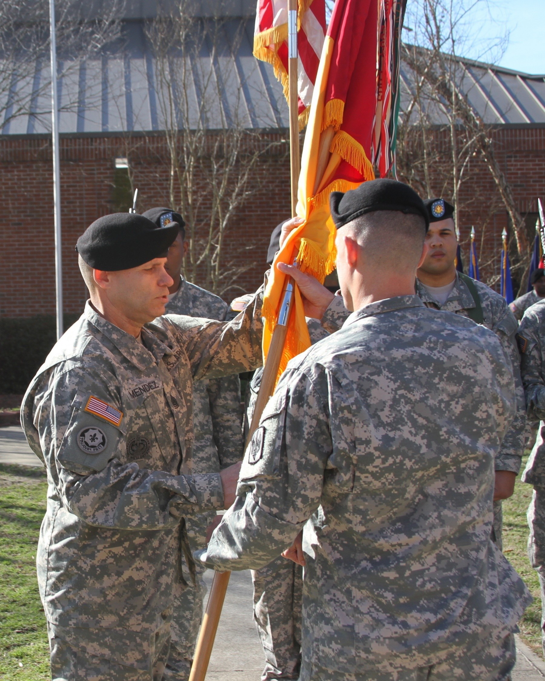
[[454,206],[443,199],[424,202],[429,212],[430,229],[426,235],[429,253],[418,268],[416,294],[426,307],[454,312],[486,326],[495,332],[505,354],[511,360],[516,383],[517,413],[503,439],[496,458],[496,490],[494,495],[493,537],[501,544],[501,500],[513,494],[514,483],[522,460],[525,440],[525,400],[520,381],[520,355],[516,345],[518,324],[505,299],[480,281],[456,271],[456,232]]

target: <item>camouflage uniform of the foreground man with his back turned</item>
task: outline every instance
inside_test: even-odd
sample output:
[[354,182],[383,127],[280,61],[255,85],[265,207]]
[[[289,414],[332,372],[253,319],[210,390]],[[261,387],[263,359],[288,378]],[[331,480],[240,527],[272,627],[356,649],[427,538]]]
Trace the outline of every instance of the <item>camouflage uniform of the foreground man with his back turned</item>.
[[514,401],[486,328],[364,306],[288,364],[198,558],[259,569],[305,528],[300,681],[503,680],[531,601],[490,541]]

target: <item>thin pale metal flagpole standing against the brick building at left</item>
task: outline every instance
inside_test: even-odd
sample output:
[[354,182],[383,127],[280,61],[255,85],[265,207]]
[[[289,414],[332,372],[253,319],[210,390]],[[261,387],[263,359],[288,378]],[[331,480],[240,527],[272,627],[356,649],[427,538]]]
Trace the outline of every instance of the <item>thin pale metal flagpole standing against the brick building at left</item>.
[[61,163],[59,159],[59,106],[57,103],[57,42],[55,0],[49,0],[51,42],[51,134],[53,147],[53,203],[55,206],[55,293],[57,298],[57,340],[63,335],[63,260],[61,244]]

